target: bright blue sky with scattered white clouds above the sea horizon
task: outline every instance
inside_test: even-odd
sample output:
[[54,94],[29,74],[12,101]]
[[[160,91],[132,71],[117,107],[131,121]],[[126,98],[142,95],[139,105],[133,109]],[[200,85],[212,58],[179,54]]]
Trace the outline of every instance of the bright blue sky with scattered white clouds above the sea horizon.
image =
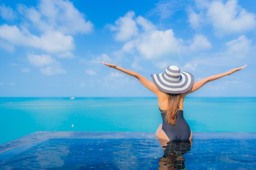
[[195,81],[248,66],[190,96],[256,97],[256,1],[1,0],[0,97],[153,97],[175,65]]

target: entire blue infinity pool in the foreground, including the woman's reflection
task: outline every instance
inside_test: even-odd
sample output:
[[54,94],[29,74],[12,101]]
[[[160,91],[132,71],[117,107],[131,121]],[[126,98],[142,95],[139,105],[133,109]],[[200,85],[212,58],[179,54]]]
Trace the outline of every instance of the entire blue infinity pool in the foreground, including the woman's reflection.
[[194,133],[162,146],[151,132],[34,132],[0,146],[0,169],[255,170],[255,133]]

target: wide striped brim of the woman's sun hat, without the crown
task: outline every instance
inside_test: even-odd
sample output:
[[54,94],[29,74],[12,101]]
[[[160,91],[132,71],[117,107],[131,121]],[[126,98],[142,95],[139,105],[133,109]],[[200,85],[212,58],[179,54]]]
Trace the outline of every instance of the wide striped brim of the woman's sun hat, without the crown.
[[179,81],[171,81],[164,77],[164,73],[153,74],[151,78],[160,91],[171,94],[186,93],[194,84],[194,76],[189,72],[180,72]]

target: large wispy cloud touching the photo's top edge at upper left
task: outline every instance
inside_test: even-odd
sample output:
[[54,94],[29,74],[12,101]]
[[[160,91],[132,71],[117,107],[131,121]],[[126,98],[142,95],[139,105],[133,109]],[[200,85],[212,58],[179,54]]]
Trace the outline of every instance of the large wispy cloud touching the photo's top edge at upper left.
[[89,33],[93,27],[90,21],[85,21],[84,14],[80,13],[72,2],[66,0],[41,0],[36,8],[19,5],[18,11],[42,32]]

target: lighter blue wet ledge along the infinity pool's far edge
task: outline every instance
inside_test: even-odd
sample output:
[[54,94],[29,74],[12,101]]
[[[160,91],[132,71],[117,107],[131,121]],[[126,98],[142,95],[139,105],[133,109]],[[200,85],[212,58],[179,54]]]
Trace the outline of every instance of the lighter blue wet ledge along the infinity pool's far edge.
[[[155,139],[155,132],[37,131],[0,145],[0,154],[17,154],[49,139]],[[256,133],[194,132],[193,139],[256,139]]]

